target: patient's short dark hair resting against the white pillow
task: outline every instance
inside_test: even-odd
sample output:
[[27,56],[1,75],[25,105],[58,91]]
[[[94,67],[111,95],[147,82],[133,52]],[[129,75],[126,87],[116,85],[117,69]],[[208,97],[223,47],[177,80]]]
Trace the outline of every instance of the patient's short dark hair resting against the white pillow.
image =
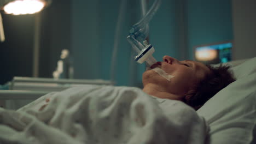
[[220,65],[212,67],[206,65],[212,73],[207,75],[205,79],[199,82],[196,87],[191,89],[186,95],[184,102],[195,110],[198,110],[207,100],[212,98],[220,90],[234,82],[234,76],[229,71],[229,66]]

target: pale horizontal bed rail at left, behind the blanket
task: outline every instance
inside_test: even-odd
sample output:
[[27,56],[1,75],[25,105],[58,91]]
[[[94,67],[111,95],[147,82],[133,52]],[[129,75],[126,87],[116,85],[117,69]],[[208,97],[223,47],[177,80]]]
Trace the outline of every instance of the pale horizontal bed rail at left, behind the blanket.
[[0,90],[0,106],[5,109],[19,109],[49,92],[82,85],[114,85],[112,81],[94,79],[51,79],[15,76],[8,82],[7,89]]

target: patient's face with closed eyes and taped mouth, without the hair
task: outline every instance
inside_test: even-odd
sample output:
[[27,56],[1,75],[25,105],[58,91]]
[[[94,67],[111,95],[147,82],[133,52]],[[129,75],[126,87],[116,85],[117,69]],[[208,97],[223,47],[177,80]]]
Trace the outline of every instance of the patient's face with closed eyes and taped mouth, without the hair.
[[[143,86],[144,88],[150,86],[153,89],[156,88],[156,91],[174,94],[177,97],[174,99],[182,99],[190,88],[211,73],[210,69],[200,62],[178,61],[170,56],[164,56],[162,60],[162,62],[153,64],[151,68],[158,67],[174,77],[168,81],[154,70],[149,69],[143,73]],[[152,88],[150,91],[153,91]]]

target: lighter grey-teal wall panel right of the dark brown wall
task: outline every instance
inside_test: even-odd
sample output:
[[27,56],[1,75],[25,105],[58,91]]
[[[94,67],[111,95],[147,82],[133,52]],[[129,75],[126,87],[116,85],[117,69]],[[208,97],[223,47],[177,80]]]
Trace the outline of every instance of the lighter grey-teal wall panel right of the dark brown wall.
[[74,61],[74,78],[100,78],[98,1],[72,1],[71,10],[71,52]]

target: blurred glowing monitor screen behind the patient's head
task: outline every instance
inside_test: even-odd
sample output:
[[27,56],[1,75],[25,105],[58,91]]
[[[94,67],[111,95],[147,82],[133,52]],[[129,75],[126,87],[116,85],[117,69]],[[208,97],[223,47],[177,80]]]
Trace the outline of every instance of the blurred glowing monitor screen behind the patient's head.
[[232,41],[194,46],[194,59],[204,64],[226,63],[231,61]]

